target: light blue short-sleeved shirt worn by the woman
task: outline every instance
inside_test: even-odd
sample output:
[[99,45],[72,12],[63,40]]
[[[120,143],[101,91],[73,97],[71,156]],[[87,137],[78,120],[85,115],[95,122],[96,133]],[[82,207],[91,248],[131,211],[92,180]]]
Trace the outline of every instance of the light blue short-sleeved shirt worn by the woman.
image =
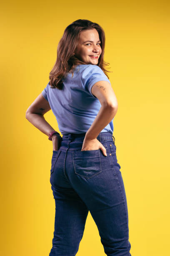
[[[62,80],[62,90],[51,88],[48,83],[42,91],[57,119],[61,134],[87,132],[101,108],[100,101],[92,95],[91,88],[98,81],[110,83],[97,65],[79,64],[73,69],[73,73],[72,77],[72,73],[68,72]],[[112,121],[101,132],[113,133]]]

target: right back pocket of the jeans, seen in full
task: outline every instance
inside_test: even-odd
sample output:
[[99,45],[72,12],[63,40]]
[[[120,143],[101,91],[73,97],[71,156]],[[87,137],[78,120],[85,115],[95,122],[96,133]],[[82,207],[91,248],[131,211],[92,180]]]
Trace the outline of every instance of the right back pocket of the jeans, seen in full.
[[100,149],[75,151],[72,154],[75,174],[90,179],[102,172]]

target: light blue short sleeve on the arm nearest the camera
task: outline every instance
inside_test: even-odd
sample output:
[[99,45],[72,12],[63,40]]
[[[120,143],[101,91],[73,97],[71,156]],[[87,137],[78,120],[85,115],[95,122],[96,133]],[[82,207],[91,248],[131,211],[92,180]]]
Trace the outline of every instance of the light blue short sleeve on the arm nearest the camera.
[[[84,87],[90,92],[90,94],[95,97],[92,92],[92,86],[99,81],[107,81],[110,83],[109,79],[105,73],[97,65],[89,64],[82,72],[82,83]],[[111,83],[110,83],[111,84]],[[96,98],[96,97],[95,97]]]

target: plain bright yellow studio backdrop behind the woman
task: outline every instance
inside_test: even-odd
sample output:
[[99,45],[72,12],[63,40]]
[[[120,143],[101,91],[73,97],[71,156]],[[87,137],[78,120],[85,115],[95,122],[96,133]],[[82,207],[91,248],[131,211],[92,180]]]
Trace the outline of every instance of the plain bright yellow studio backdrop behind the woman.
[[[105,31],[118,100],[113,121],[128,201],[132,256],[162,256],[170,240],[170,4],[168,1],[4,1],[1,4],[0,255],[48,256],[55,200],[52,142],[25,118],[49,81],[64,29]],[[52,111],[45,119],[57,131]],[[76,256],[104,256],[90,212]]]

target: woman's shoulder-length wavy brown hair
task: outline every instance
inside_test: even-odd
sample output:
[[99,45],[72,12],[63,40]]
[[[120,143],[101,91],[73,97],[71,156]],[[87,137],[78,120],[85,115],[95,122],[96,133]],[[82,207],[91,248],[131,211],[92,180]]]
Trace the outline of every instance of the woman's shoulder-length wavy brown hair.
[[77,57],[73,54],[76,50],[78,40],[79,40],[79,33],[84,30],[89,30],[95,28],[99,34],[99,38],[101,41],[101,49],[102,53],[98,59],[98,64],[102,71],[105,73],[107,78],[109,79],[105,69],[105,66],[109,65],[103,60],[104,56],[104,49],[105,49],[105,32],[104,30],[98,25],[90,20],[75,20],[72,22],[63,33],[62,38],[60,39],[57,47],[57,59],[55,62],[54,67],[52,68],[49,78],[50,78],[50,87],[57,88],[62,90],[62,79],[64,79],[65,74],[67,72],[72,73],[73,77],[73,69],[78,64],[86,64],[84,61],[77,59]]

